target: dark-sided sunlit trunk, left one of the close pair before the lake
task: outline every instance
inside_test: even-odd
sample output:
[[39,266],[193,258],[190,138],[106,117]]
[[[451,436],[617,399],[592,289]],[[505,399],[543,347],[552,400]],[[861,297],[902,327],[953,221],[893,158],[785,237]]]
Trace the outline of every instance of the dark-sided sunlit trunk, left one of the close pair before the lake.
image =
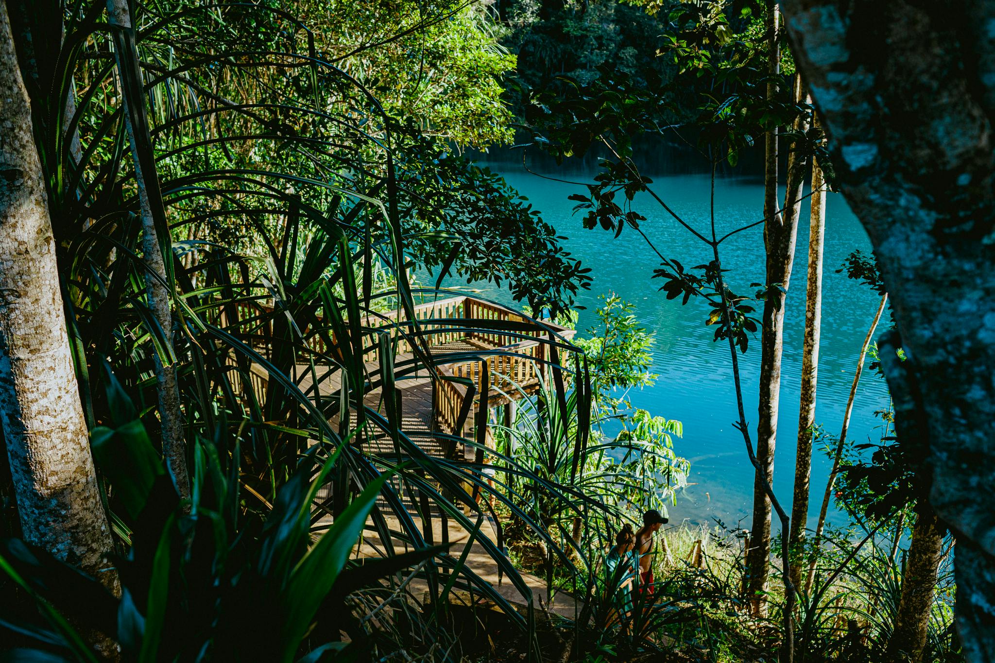
[[[802,99],[801,78],[794,78],[793,98]],[[794,130],[808,129],[808,119],[799,117]],[[764,474],[753,479],[753,557],[748,569],[747,590],[754,613],[763,606],[770,558],[770,499],[764,484],[773,485],[774,449],[777,442],[777,414],[781,389],[781,356],[784,338],[784,304],[791,280],[795,245],[798,240],[798,217],[801,213],[802,186],[808,172],[808,159],[797,150],[788,155],[787,192],[783,214],[766,217],[763,227],[767,253],[766,298],[763,304],[763,328],[760,333],[760,407],[757,423],[756,456]],[[776,192],[775,192],[776,193]],[[776,205],[776,198],[774,205]],[[765,201],[764,208],[768,207]],[[766,215],[765,211],[765,215]]]

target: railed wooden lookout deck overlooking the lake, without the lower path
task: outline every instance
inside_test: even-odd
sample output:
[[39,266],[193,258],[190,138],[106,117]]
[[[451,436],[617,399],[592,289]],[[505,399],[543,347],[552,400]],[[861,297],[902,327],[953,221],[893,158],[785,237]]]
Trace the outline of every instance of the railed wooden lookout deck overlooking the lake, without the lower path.
[[[472,439],[476,415],[482,407],[494,409],[534,394],[550,361],[546,356],[547,343],[554,335],[560,342],[569,341],[574,335],[573,330],[548,322],[531,334],[486,331],[492,320],[522,322],[523,318],[510,309],[472,297],[421,304],[415,307],[415,315],[428,339],[431,366],[417,360],[401,333],[407,323],[397,322],[396,311],[367,316],[363,327],[370,334],[391,328],[397,348],[391,363],[399,367],[395,386],[400,396],[400,428],[426,453],[435,456],[447,453],[446,445],[436,433]],[[475,328],[468,322],[480,326]],[[326,352],[323,341],[315,337],[312,343],[317,352]],[[364,359],[366,379],[379,383],[379,350],[371,349]],[[262,396],[269,376],[260,365],[254,365],[252,370],[258,395]],[[336,367],[317,365],[312,373],[310,365],[301,362],[291,377],[312,400],[315,396],[324,402],[339,398],[341,372]],[[482,404],[485,393],[487,402]],[[377,387],[364,395],[363,404],[386,416],[383,399],[383,389]],[[338,416],[332,416],[330,423],[337,426]],[[490,430],[487,434],[490,435]],[[393,442],[382,433],[375,434],[370,444],[368,450],[372,453],[394,450]],[[456,459],[473,456],[467,445],[450,452],[455,452]]]

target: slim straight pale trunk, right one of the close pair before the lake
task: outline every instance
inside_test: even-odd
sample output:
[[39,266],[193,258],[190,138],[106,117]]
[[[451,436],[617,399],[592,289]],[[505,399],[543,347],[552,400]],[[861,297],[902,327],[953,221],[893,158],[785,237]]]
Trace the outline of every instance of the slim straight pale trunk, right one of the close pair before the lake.
[[[818,121],[813,124],[818,126]],[[801,586],[800,549],[808,521],[809,479],[812,474],[812,427],[815,425],[815,395],[819,378],[819,334],[822,326],[822,256],[825,248],[825,181],[817,160],[812,160],[812,201],[809,222],[808,284],[805,291],[805,340],[802,347],[802,386],[798,405],[798,447],[795,458],[795,489],[791,500],[791,581]]]

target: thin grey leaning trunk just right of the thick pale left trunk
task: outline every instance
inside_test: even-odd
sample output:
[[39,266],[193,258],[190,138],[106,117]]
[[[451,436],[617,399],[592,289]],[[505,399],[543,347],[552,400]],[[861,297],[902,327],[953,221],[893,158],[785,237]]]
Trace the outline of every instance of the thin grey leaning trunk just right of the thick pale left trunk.
[[[119,26],[126,30],[131,28],[131,17],[128,14],[127,0],[107,0],[107,14],[110,25]],[[118,42],[118,45],[120,42]],[[133,49],[115,49],[114,56],[117,59],[118,72],[133,68],[140,72],[137,54]],[[130,59],[129,63],[124,63],[124,59]],[[126,66],[127,65],[127,66]],[[166,343],[172,346],[173,324],[172,314],[169,309],[169,290],[163,281],[166,280],[166,266],[163,261],[162,243],[168,238],[159,238],[156,231],[155,217],[153,216],[154,196],[156,201],[160,200],[158,193],[158,175],[155,173],[154,161],[148,160],[146,167],[151,166],[150,172],[143,169],[139,149],[148,148],[151,145],[147,141],[145,130],[145,107],[139,104],[136,108],[130,108],[127,97],[121,94],[124,106],[124,128],[127,131],[128,143],[131,147],[131,156],[134,163],[135,183],[138,188],[138,203],[141,214],[141,249],[148,273],[145,275],[145,296],[148,307],[158,321],[159,326],[165,334]],[[139,126],[135,126],[133,118],[139,120]],[[142,147],[139,147],[139,141]],[[161,206],[160,206],[161,207]],[[166,245],[168,246],[168,242]],[[162,451],[166,458],[166,464],[172,472],[176,481],[176,489],[181,499],[190,497],[190,479],[187,471],[186,442],[183,431],[183,413],[180,410],[179,385],[176,380],[175,364],[166,365],[159,359],[158,355],[152,353],[155,363],[155,389],[159,400],[159,420],[162,428]]]

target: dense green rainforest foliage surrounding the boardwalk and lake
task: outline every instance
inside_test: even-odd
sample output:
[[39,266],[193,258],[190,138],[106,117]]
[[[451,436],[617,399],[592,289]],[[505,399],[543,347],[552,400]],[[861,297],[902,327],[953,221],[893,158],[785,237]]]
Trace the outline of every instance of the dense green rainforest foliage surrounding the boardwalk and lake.
[[[657,250],[661,305],[700,306],[728,343],[752,453],[736,361],[756,308],[784,288],[742,294],[714,210],[698,232],[633,156],[647,137],[687,138],[714,178],[780,128],[793,158],[818,155],[831,178],[822,131],[791,130],[814,109],[790,92],[790,57],[769,71],[767,3],[124,6],[133,29],[86,0],[12,16],[114,536],[97,579],[26,546],[0,462],[12,660],[760,661],[786,643],[793,660],[895,658],[915,580],[911,547],[898,551],[935,520],[907,410],[883,414],[870,462],[835,440],[852,451],[838,501],[853,522],[804,551],[813,581],[797,602],[770,587],[767,613],[744,609],[747,544],[720,526],[661,534],[656,591],[619,608],[605,553],[623,522],[678,499],[690,466],[681,422],[664,415],[680,413],[631,405],[630,390],[666,376],[651,373],[653,335],[628,302],[606,296],[575,342],[551,331],[574,319],[589,270],[463,154],[515,130],[559,162],[597,150],[598,174],[571,196],[586,229],[656,250],[635,202],[647,193],[707,245],[714,258],[692,267]],[[846,268],[885,293],[868,256]],[[528,315],[419,319],[450,275],[505,287]],[[490,368],[438,370],[434,338],[466,330],[541,346],[538,387],[498,394],[517,405],[501,422],[464,410],[467,436],[415,429],[406,381],[425,380],[434,407],[447,385],[490,404]],[[883,361],[902,357],[882,344]],[[164,439],[164,367],[189,494]],[[942,559],[923,660],[956,661],[952,540],[942,525],[929,534]],[[478,575],[482,560],[523,600]],[[574,613],[551,614],[540,585],[546,598],[568,591]]]

